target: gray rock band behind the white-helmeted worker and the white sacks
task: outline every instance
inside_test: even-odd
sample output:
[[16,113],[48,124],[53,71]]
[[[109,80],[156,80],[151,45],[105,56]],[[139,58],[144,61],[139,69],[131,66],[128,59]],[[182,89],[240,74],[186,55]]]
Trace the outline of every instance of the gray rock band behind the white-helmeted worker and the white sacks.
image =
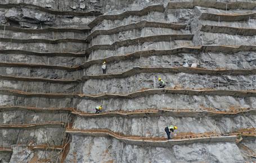
[[[215,57],[215,56],[218,57]],[[151,55],[114,60],[107,62],[107,73],[122,73],[133,67],[181,67],[184,62],[191,66],[197,63],[199,67],[207,69],[227,68],[227,69],[250,69],[255,68],[255,52],[238,53],[215,53],[201,52],[199,54],[178,53],[170,55]],[[104,57],[101,57],[104,58]],[[101,64],[92,64],[86,68],[86,74],[102,74]]]

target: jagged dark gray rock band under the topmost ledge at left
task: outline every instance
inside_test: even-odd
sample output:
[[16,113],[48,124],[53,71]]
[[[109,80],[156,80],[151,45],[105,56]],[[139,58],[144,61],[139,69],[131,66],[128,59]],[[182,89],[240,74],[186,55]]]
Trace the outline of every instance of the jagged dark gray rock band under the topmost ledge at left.
[[[1,10],[1,9],[0,9]],[[42,10],[13,7],[5,10],[7,25],[42,29],[47,27],[77,27],[83,28],[93,20],[93,16],[57,15]]]

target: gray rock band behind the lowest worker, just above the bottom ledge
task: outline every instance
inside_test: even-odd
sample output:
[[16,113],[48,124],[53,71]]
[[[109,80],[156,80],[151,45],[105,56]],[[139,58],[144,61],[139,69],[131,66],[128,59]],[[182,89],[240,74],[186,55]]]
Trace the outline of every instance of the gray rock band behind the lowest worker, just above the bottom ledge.
[[[239,129],[251,128],[255,125],[255,115],[237,115],[236,117],[145,117],[145,118],[83,118],[74,121],[76,129],[109,129],[127,136],[166,137],[164,128],[169,124],[179,127],[176,133],[216,132],[228,134]],[[191,125],[192,124],[192,125]],[[213,128],[214,126],[214,128]]]

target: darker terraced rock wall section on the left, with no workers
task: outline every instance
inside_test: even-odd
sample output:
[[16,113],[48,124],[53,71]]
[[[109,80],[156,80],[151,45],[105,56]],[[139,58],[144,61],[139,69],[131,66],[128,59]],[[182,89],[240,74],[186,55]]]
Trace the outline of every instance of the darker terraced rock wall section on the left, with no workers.
[[[101,13],[60,3],[1,1],[1,90],[82,93],[77,65],[86,59],[87,24]],[[1,92],[0,101],[0,162],[60,162],[76,99]]]

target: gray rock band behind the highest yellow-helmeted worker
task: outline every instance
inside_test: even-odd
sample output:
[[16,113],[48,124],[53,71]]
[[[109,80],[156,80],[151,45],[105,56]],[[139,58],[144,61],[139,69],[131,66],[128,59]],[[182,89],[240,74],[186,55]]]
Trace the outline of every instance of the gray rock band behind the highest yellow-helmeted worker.
[[[85,94],[129,94],[143,89],[158,88],[161,77],[169,88],[183,89],[218,89],[218,90],[251,90],[255,88],[254,75],[229,76],[191,73],[138,73],[124,78],[110,78],[85,81]],[[251,85],[253,83],[253,85]],[[98,87],[101,85],[102,87]],[[111,87],[110,87],[111,86]]]

